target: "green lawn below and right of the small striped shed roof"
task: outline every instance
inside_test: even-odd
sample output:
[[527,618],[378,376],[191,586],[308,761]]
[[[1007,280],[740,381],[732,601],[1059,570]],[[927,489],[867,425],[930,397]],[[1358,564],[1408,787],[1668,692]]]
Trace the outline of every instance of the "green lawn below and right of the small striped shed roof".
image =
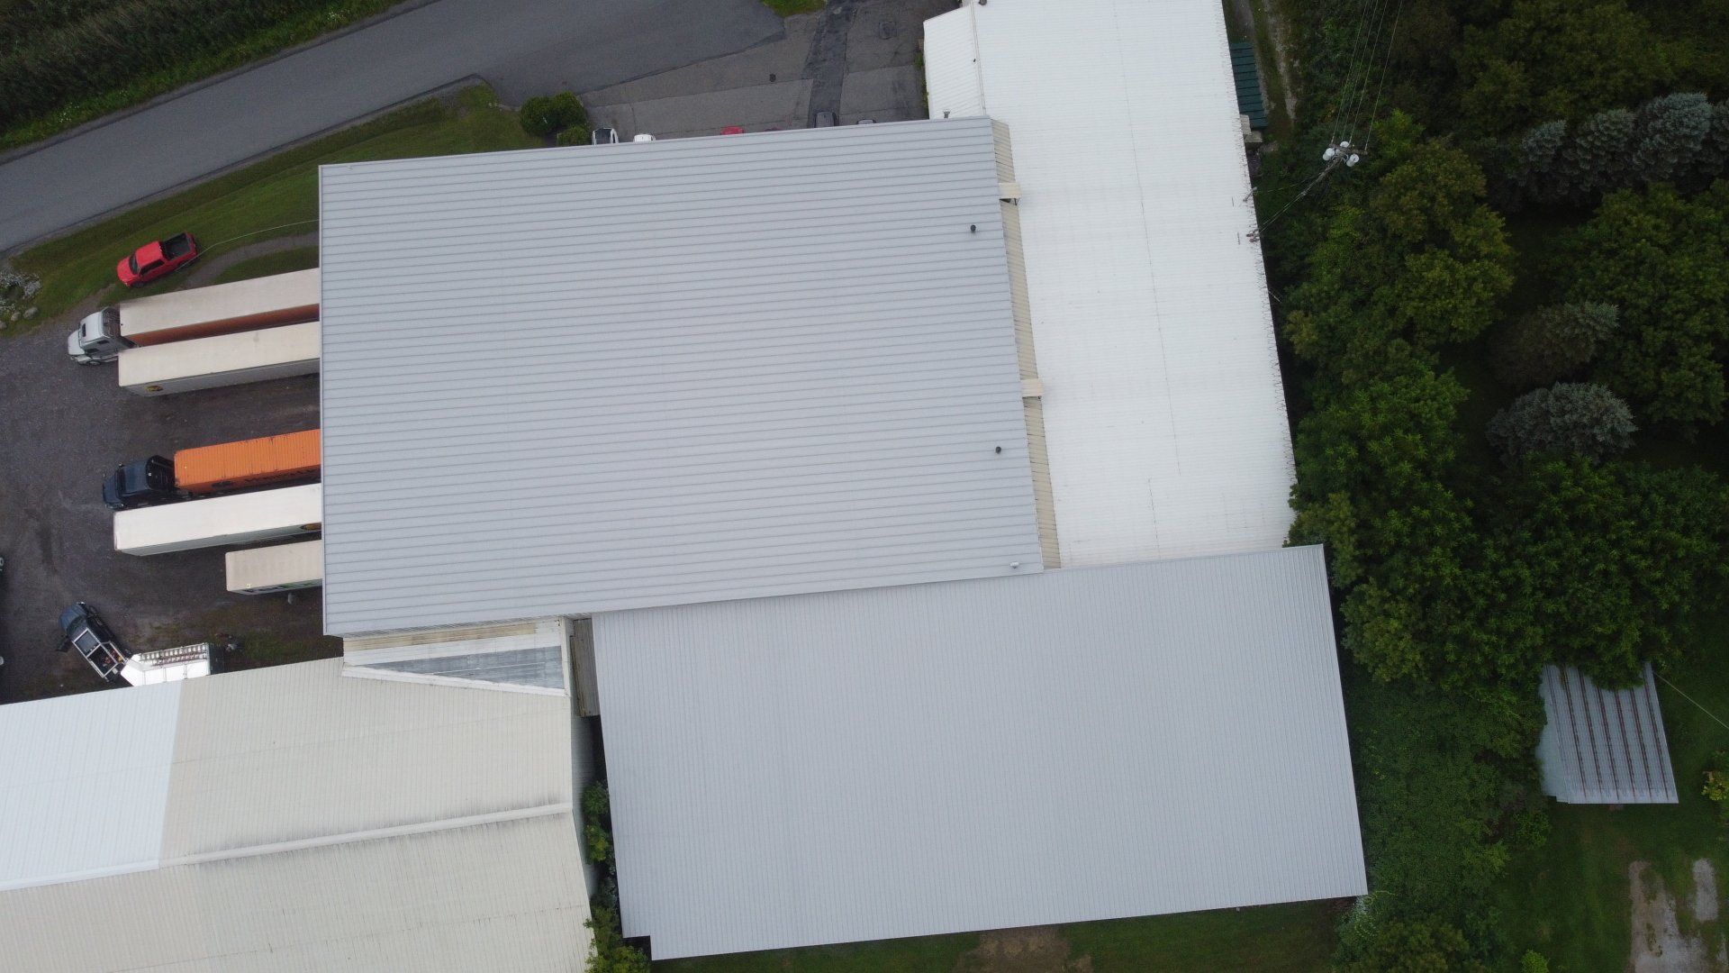
[[[1665,673],[1694,701],[1729,720],[1729,618],[1701,627],[1691,661]],[[1729,750],[1729,729],[1658,680],[1663,729],[1675,767],[1679,805],[1553,805],[1553,833],[1537,852],[1515,859],[1501,881],[1511,956],[1535,949],[1554,973],[1622,970],[1632,949],[1627,867],[1646,860],[1681,904],[1691,902],[1693,860],[1710,859],[1719,895],[1729,880],[1729,845],[1715,809],[1700,796],[1712,753]],[[1682,911],[1682,928],[1688,916]],[[1713,942],[1722,919],[1705,930]]]

